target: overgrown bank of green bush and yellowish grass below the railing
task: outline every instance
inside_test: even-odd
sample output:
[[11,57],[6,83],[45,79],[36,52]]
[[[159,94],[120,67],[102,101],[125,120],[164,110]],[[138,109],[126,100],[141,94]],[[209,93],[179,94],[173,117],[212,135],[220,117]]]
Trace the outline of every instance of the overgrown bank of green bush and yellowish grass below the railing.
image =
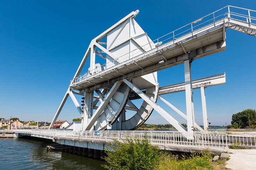
[[186,156],[169,154],[150,145],[147,139],[114,140],[112,149],[107,149],[106,161],[102,166],[109,170],[222,170],[225,160],[212,162],[213,155],[209,150],[201,154],[192,153]]

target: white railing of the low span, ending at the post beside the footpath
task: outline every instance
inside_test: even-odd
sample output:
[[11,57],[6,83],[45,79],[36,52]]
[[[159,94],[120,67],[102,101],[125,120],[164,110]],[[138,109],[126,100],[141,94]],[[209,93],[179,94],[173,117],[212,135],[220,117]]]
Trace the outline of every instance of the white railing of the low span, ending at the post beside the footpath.
[[50,139],[87,140],[92,142],[123,141],[127,138],[148,139],[152,145],[192,148],[211,148],[227,151],[226,133],[166,132],[166,131],[56,131],[56,130],[15,130],[32,136]]

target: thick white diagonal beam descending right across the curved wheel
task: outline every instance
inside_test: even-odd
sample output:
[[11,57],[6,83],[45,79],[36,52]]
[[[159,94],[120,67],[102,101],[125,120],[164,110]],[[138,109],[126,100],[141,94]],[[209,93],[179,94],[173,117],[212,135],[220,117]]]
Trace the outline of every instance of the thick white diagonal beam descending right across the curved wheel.
[[172,124],[178,131],[185,132],[184,128],[177,120],[175,120],[170,114],[163,110],[159,105],[152,101],[147,95],[145,95],[139,88],[134,86],[131,82],[126,79],[123,79],[123,82],[126,83],[135,93],[137,93],[144,101],[151,105],[164,119],[166,119],[170,124]]

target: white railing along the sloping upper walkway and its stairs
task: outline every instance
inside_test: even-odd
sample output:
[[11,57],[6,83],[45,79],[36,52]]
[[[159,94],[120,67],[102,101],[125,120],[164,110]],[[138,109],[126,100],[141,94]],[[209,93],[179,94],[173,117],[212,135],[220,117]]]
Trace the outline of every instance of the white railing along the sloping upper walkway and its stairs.
[[[143,56],[147,56],[147,54],[150,54],[150,52],[152,52],[153,50],[158,49],[161,46],[166,45],[168,42],[173,41],[173,43],[179,39],[181,39],[182,36],[184,36],[185,39],[183,40],[188,40],[188,39],[193,39],[193,37],[195,37],[196,34],[198,34],[198,30],[199,29],[204,29],[207,30],[207,28],[211,29],[213,28],[212,25],[216,26],[215,24],[220,24],[220,21],[223,20],[224,18],[230,18],[232,17],[233,19],[237,19],[240,21],[244,21],[247,23],[254,23],[256,24],[256,11],[255,10],[250,10],[250,9],[245,9],[245,8],[240,8],[240,7],[235,7],[235,6],[226,6],[224,8],[221,8],[213,13],[210,13],[194,22],[191,22],[187,25],[184,25],[181,28],[178,28],[160,38],[157,38],[155,40],[153,40],[152,42],[149,42],[148,44],[154,43],[155,44],[155,48],[151,49],[150,47],[145,48],[148,44],[145,44],[144,46],[139,47],[138,49],[144,49]],[[189,38],[187,38],[186,35],[191,34],[191,36]],[[104,72],[107,73],[108,71],[112,71],[114,68],[118,67],[119,65],[123,65],[124,61],[129,60],[132,57],[132,61],[134,57],[140,56],[141,52],[136,52],[135,51],[140,51],[138,49],[135,49],[125,55],[128,55],[129,57],[126,57],[124,59],[121,60],[121,58],[123,56],[120,56],[112,61],[109,61],[108,63],[102,65],[103,71],[99,71],[98,68],[95,68],[94,70],[90,70],[82,75],[79,75],[78,77],[76,77],[75,79],[70,80],[70,84],[79,82],[81,80],[84,79],[88,79],[88,77],[91,77],[92,75],[99,75],[100,73]],[[119,63],[119,64],[118,64]],[[107,65],[110,65],[110,67]]]

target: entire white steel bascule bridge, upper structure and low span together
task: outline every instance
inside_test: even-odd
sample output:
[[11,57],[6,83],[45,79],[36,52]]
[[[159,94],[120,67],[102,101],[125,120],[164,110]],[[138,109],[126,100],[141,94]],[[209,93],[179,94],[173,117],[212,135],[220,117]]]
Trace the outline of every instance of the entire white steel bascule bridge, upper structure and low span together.
[[[207,122],[206,87],[225,83],[225,73],[192,80],[194,60],[224,51],[225,31],[233,29],[256,36],[256,11],[226,6],[191,22],[156,40],[151,40],[134,20],[139,10],[128,14],[90,43],[78,70],[55,113],[48,130],[14,130],[17,136],[28,135],[52,139],[64,148],[102,150],[113,139],[148,139],[161,149],[196,151],[227,151],[236,145],[256,148],[255,132],[209,131]],[[97,57],[97,58],[96,58]],[[100,59],[99,59],[100,58]],[[88,72],[81,74],[89,59]],[[95,61],[100,63],[95,63]],[[184,64],[184,82],[160,87],[157,71]],[[171,75],[170,75],[171,78]],[[203,125],[195,122],[193,89],[201,89]],[[163,95],[186,92],[186,113],[163,98]],[[75,96],[76,95],[76,96]],[[82,121],[70,124],[66,130],[52,129],[68,96]],[[77,97],[81,97],[81,103]],[[143,99],[140,107],[136,99]],[[162,100],[187,121],[183,127],[158,105]],[[140,127],[155,110],[175,131],[131,131]],[[127,113],[132,113],[128,117]],[[193,131],[197,127],[199,131]],[[106,131],[110,129],[111,131]]]

